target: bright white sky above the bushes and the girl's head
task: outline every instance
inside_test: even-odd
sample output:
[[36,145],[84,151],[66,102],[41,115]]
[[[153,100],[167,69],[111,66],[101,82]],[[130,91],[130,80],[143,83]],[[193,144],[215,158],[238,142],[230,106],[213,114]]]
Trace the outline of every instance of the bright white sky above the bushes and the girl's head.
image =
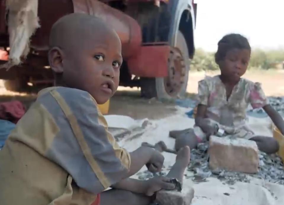
[[216,51],[228,33],[246,36],[252,48],[284,49],[284,0],[194,0],[195,47]]

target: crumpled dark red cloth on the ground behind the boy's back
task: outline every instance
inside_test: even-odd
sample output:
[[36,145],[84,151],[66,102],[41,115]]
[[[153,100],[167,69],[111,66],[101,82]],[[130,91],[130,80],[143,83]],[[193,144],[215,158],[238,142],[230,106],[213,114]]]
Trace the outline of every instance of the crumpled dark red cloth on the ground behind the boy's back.
[[8,120],[17,124],[17,122],[23,117],[26,110],[24,105],[20,101],[10,101],[0,103],[0,119]]

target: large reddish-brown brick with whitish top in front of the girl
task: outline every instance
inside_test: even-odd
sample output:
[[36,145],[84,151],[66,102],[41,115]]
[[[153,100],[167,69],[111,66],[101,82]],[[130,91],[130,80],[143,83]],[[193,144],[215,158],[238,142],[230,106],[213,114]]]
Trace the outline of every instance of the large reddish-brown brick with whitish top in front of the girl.
[[256,142],[241,138],[210,137],[209,166],[212,170],[224,169],[256,173],[258,165],[259,156]]

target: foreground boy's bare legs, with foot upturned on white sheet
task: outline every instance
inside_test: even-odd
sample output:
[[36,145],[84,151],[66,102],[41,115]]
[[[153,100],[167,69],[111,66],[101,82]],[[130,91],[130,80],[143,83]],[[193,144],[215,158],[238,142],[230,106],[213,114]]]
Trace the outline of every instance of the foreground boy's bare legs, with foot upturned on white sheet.
[[[184,147],[179,150],[176,162],[167,177],[176,178],[182,182],[184,170],[190,162],[190,149]],[[132,193],[119,189],[112,189],[101,193],[101,205],[148,205],[151,198],[142,194]]]

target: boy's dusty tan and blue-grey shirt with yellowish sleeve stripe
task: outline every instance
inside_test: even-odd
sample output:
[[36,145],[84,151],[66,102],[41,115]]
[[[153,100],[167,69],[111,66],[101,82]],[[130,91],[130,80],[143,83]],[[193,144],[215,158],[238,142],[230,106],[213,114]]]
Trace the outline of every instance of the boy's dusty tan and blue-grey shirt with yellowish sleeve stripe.
[[0,204],[98,204],[129,167],[89,93],[47,88],[0,151]]

